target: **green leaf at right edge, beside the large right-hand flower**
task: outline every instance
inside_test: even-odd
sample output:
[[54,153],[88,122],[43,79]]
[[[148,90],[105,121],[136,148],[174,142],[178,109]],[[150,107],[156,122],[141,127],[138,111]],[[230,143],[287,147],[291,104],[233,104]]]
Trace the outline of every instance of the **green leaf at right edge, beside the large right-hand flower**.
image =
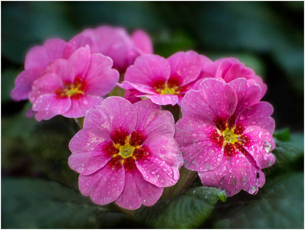
[[[287,139],[287,133],[276,133],[280,139]],[[296,171],[304,168],[304,134],[292,133],[288,141],[275,140],[275,149],[272,151],[276,157],[275,163],[264,170],[266,175],[277,171]]]

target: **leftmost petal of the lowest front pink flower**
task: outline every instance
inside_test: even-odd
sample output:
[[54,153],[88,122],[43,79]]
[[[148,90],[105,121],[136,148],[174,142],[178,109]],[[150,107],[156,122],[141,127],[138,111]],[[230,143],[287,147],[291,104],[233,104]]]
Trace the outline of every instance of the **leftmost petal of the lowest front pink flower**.
[[70,168],[82,175],[90,175],[105,166],[111,160],[111,154],[105,149],[113,144],[106,132],[98,128],[87,128],[78,131],[70,140]]

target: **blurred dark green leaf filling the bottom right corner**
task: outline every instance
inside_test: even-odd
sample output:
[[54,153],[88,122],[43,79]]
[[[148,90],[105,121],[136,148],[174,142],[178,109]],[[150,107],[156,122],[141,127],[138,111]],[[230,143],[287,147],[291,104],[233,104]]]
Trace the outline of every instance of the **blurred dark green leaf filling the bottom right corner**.
[[215,206],[203,228],[304,228],[304,173],[268,178],[253,196],[246,192]]

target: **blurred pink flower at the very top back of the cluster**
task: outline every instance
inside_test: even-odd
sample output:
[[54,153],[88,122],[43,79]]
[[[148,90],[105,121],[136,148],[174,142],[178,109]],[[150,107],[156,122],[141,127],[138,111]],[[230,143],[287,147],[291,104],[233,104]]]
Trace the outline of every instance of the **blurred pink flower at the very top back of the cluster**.
[[124,28],[99,26],[85,29],[69,41],[71,50],[88,44],[93,53],[102,53],[113,60],[113,67],[121,72],[133,64],[136,57],[153,53],[152,41],[142,30],[131,36]]

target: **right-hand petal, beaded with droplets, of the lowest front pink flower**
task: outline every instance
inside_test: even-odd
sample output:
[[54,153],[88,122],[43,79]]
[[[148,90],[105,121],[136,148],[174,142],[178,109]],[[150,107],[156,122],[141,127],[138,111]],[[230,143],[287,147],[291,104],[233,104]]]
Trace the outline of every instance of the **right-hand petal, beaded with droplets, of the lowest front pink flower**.
[[135,163],[144,179],[157,187],[176,184],[183,158],[175,139],[156,134],[146,139],[142,146],[149,149],[148,156],[137,157]]

